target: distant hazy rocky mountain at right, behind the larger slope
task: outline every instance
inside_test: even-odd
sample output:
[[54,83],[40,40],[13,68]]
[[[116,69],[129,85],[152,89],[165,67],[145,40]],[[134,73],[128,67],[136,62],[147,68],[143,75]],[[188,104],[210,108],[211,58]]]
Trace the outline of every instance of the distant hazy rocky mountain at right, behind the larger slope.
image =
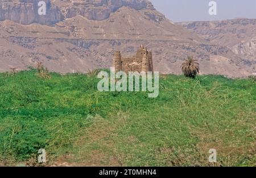
[[256,71],[256,19],[179,23],[213,44],[228,46],[242,58],[243,67]]

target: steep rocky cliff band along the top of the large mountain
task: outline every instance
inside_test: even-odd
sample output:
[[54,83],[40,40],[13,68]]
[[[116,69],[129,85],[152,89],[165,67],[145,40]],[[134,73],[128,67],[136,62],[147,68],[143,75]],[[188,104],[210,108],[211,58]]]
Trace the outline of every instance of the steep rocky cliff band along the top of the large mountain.
[[[38,3],[46,3],[46,15],[39,15]],[[152,4],[146,0],[89,0],[89,1],[68,1],[59,0],[2,0],[0,2],[0,20],[12,20],[20,24],[47,24],[53,25],[61,20],[81,15],[89,20],[108,19],[112,12],[121,7],[130,7],[135,10],[154,9]],[[61,11],[60,11],[61,9]],[[156,21],[163,20],[164,16],[158,13],[144,12],[149,18]]]

